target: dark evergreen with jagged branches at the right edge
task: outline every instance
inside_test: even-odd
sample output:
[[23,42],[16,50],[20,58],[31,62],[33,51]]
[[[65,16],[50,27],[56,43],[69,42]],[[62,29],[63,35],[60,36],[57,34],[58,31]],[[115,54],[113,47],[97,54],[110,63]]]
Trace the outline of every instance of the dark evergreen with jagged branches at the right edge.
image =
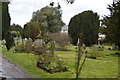
[[105,16],[102,21],[106,26],[106,39],[110,43],[115,43],[120,49],[120,1],[108,6],[110,15]]

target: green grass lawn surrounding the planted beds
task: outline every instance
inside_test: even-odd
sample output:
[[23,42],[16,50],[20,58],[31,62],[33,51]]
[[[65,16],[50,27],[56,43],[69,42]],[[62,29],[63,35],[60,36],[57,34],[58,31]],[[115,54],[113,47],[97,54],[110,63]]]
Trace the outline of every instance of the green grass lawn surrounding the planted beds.
[[[13,53],[13,48],[7,51],[2,49],[3,56],[12,63],[24,69],[33,78],[75,78],[75,46],[69,46],[72,51],[55,51],[64,60],[69,71],[60,73],[47,73],[36,67],[36,56],[31,53]],[[100,51],[105,56],[98,59],[87,58],[82,68],[80,78],[117,78],[118,56],[112,55],[120,51]]]

